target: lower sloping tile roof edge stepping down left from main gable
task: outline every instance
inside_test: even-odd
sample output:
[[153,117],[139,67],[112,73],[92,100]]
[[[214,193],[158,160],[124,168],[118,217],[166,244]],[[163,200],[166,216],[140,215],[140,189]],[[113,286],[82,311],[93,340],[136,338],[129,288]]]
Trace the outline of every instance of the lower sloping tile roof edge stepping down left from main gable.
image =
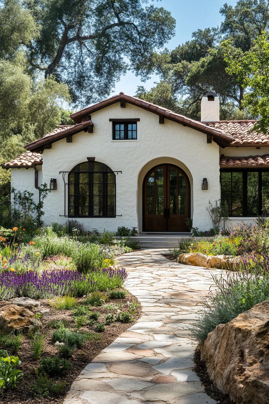
[[75,133],[79,133],[81,130],[87,130],[89,126],[94,126],[91,120],[76,125],[59,125],[56,129],[53,129],[50,133],[42,137],[42,139],[35,140],[24,147],[27,150],[40,151],[44,148],[44,145],[54,143],[68,135],[75,135]]

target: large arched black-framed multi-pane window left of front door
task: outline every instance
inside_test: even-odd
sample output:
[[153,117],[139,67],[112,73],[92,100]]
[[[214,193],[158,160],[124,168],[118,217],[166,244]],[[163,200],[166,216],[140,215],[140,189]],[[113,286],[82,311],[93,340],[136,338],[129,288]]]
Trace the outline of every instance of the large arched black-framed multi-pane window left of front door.
[[103,163],[77,164],[68,175],[68,212],[71,217],[116,215],[116,177]]

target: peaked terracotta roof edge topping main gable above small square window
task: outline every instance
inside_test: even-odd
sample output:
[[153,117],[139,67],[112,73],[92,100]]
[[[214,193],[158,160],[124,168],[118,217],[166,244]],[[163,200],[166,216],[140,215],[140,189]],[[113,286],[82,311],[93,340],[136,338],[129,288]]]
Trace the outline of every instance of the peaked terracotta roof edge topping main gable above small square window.
[[189,126],[196,130],[199,130],[200,132],[212,135],[215,141],[220,145],[228,146],[230,145],[231,141],[233,141],[233,137],[228,133],[227,134],[224,133],[222,129],[215,128],[214,126],[208,126],[202,122],[198,122],[190,118],[187,118],[186,116],[176,114],[175,112],[172,112],[169,109],[165,109],[158,105],[149,103],[136,97],[132,97],[131,95],[126,95],[124,93],[119,93],[118,95],[114,95],[113,97],[110,97],[97,104],[91,105],[90,107],[81,109],[81,111],[75,112],[70,116],[75,122],[81,122],[81,120],[83,120],[85,116],[119,101],[126,101],[127,103],[136,105],[140,108],[144,108],[150,112],[153,112],[154,114],[164,116],[164,118],[183,124],[184,126]]

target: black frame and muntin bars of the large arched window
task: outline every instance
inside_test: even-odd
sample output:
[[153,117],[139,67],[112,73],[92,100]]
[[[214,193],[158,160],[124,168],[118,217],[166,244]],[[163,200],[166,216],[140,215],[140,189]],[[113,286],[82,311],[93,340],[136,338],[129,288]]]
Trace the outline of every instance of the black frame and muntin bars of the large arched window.
[[[94,170],[94,164],[102,164],[102,170]],[[88,170],[80,170],[81,164],[88,164]],[[70,182],[70,175],[74,174],[74,182]],[[88,183],[81,183],[79,181],[79,175],[80,174],[88,174]],[[102,183],[94,183],[94,174],[102,174]],[[113,179],[114,182],[108,182],[108,174],[113,174]],[[108,185],[114,185],[114,195],[113,194],[108,194]],[[70,189],[71,186],[73,185],[74,187],[74,193],[71,194]],[[81,195],[79,193],[79,185],[88,185],[88,194]],[[102,185],[102,194],[94,194],[94,185]],[[81,196],[84,196],[88,198],[88,205],[81,205],[79,204],[79,198]],[[102,204],[100,205],[95,205],[94,204],[94,196],[97,196],[98,198],[102,198]],[[115,198],[115,204],[114,205],[108,205],[108,197],[114,197]],[[74,204],[70,203],[71,197],[74,198]],[[86,161],[86,162],[81,162],[77,164],[68,174],[68,217],[70,218],[82,218],[82,217],[96,217],[96,218],[101,218],[101,217],[116,217],[116,175],[109,168],[106,164],[101,163],[101,162],[96,162],[96,161]],[[79,214],[79,207],[80,206],[88,206],[88,215],[80,215]],[[94,215],[94,207],[96,206],[102,206],[102,215]],[[74,214],[72,215],[70,213],[70,208],[74,208]],[[114,208],[114,213],[113,215],[108,214],[108,208],[113,207]]]

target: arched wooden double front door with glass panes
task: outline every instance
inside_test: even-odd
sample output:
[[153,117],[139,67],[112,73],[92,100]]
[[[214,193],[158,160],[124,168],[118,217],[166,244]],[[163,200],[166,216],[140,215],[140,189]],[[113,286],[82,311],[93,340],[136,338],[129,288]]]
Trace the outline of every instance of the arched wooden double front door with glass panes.
[[184,171],[171,164],[156,166],[143,186],[144,231],[188,231],[190,183]]

